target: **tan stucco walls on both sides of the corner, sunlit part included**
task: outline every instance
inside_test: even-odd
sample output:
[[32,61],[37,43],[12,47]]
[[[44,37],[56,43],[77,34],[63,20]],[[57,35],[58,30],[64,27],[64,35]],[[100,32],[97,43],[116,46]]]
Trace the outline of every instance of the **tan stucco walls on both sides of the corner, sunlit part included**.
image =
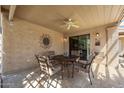
[[[63,34],[42,26],[29,23],[21,19],[14,19],[12,25],[9,24],[7,18],[3,18],[3,72],[13,72],[30,67],[37,66],[34,60],[34,54],[38,52],[48,51],[40,47],[40,36],[47,33],[52,37],[52,47],[56,54],[63,52],[69,53],[68,39],[63,44]],[[100,46],[95,46],[96,33],[99,33]],[[108,42],[106,42],[105,27],[94,28],[90,30],[79,31],[69,36],[90,34],[91,51],[100,52],[100,60],[103,64],[116,66],[118,63],[119,39],[118,30],[108,29]],[[65,45],[65,46],[64,46]],[[64,47],[63,47],[64,46]],[[65,50],[63,50],[65,49]],[[107,59],[108,57],[108,59]]]

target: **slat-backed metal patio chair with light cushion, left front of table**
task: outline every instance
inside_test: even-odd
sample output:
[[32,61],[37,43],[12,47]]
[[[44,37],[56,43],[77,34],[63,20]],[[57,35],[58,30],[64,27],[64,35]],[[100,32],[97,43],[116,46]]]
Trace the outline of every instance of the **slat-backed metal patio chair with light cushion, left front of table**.
[[48,57],[39,55],[35,55],[35,57],[39,63],[41,72],[46,73],[49,77],[61,70],[60,66],[53,66],[49,62]]

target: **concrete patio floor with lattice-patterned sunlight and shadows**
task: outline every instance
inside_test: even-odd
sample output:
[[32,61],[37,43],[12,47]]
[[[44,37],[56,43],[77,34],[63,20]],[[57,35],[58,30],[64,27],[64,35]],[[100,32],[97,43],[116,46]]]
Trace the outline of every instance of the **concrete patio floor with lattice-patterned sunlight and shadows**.
[[75,72],[74,78],[64,77],[60,73],[52,76],[48,82],[47,76],[40,74],[40,69],[30,69],[16,74],[3,76],[5,88],[124,88],[124,68],[119,66],[105,67],[104,64],[93,63],[95,77],[91,77],[90,85],[88,75],[84,72]]

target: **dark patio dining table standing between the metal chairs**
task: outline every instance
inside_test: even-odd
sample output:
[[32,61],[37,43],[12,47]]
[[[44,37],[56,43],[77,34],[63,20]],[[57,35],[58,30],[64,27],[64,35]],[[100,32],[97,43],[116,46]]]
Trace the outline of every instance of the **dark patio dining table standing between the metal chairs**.
[[76,62],[76,59],[77,59],[77,56],[56,55],[53,57],[53,60],[55,60],[58,64],[61,64],[62,78],[63,78],[65,67],[67,67],[68,75],[70,76],[69,68],[68,68],[69,65],[72,65],[72,68],[71,68],[72,78],[74,77],[74,63]]

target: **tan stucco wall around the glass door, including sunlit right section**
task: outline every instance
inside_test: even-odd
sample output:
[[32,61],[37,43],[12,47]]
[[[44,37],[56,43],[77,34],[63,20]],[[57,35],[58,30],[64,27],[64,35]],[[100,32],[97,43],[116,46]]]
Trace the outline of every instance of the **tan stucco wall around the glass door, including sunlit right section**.
[[[79,32],[70,34],[69,36],[90,34],[90,40],[91,40],[90,50],[100,53],[96,57],[95,61],[100,63],[102,62],[104,65],[106,65],[107,63],[108,65],[117,66],[118,52],[119,52],[118,29],[109,28],[107,30],[108,31],[106,33],[105,26],[103,26],[103,27],[98,27],[94,29],[79,31]],[[99,33],[98,38],[100,39],[100,46],[95,46],[96,33]],[[66,46],[65,51],[69,53],[69,40],[66,41],[65,46]]]

